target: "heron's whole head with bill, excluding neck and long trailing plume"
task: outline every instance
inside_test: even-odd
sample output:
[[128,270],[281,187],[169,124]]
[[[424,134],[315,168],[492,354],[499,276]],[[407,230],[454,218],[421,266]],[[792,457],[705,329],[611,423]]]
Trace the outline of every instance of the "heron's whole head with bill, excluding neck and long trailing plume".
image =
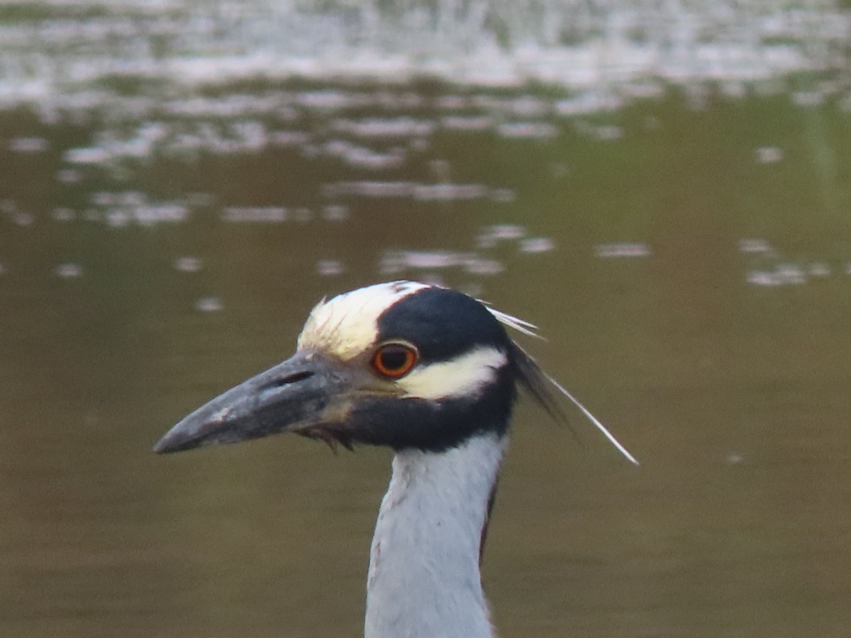
[[321,301],[286,361],[199,407],[159,453],[294,432],[331,445],[441,452],[504,434],[517,384],[553,407],[505,331],[528,326],[463,293],[380,283]]

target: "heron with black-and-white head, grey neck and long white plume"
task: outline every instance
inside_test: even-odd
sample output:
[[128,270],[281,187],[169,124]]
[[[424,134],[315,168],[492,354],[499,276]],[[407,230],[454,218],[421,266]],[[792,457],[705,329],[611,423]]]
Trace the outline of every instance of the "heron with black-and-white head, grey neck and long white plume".
[[364,637],[494,638],[480,565],[518,390],[554,415],[565,393],[637,464],[506,328],[535,330],[435,284],[384,282],[323,299],[293,356],[199,407],[154,451],[283,432],[391,448]]

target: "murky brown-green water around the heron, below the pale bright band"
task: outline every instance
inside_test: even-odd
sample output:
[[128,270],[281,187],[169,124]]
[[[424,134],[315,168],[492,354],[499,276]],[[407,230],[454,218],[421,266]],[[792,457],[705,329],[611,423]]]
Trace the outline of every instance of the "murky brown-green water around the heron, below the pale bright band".
[[[538,324],[523,345],[643,462],[520,408],[484,565],[500,635],[847,635],[847,98],[670,89],[557,117],[529,91],[544,112],[518,117],[441,105],[458,93],[248,117],[306,135],[254,150],[214,117],[0,114],[0,635],[359,635],[389,453],[149,450],[288,356],[324,294],[393,277]],[[151,122],[146,155],[67,154]]]

